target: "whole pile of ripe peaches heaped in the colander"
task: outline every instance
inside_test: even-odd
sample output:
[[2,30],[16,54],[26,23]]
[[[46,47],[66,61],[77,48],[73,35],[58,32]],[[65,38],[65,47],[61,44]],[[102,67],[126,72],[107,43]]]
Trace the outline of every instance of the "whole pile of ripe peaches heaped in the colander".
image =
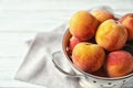
[[133,41],[133,13],[116,18],[103,9],[81,10],[71,16],[69,31],[72,63],[79,69],[103,77],[133,73],[132,53],[124,48]]

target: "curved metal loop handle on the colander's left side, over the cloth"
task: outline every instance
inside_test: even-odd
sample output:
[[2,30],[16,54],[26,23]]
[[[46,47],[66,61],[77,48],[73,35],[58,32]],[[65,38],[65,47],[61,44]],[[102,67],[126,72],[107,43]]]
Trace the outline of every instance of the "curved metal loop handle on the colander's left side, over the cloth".
[[[64,74],[64,75],[66,75],[66,76],[70,76],[70,77],[84,77],[84,75],[76,75],[74,72],[73,72],[73,73],[65,72],[65,70],[61,67],[59,61],[64,61],[64,59],[62,58],[62,54],[63,54],[63,53],[61,53],[61,52],[54,52],[54,53],[52,54],[52,62],[53,62],[54,67],[55,67],[59,72],[61,72],[62,74]],[[61,56],[61,57],[59,57],[59,56]],[[66,62],[66,61],[65,61],[65,62]],[[70,66],[70,65],[69,65],[69,66]],[[70,67],[71,67],[71,66],[70,66]],[[72,69],[72,68],[71,68],[71,69]]]

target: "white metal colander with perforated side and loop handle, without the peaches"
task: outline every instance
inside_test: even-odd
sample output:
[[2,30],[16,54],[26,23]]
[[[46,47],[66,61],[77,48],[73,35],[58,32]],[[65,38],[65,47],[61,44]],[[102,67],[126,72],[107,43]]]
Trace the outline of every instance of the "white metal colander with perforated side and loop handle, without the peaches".
[[[109,78],[109,77],[100,77],[92,74],[88,74],[79,69],[73,65],[71,61],[71,55],[69,53],[68,44],[69,44],[70,37],[71,37],[71,34],[68,29],[62,38],[62,52],[53,53],[52,62],[55,68],[59,69],[64,75],[71,76],[71,77],[78,77],[79,84],[83,88],[123,88],[124,84],[133,79],[133,73],[122,77]],[[59,62],[59,59],[60,61],[66,59],[69,63],[68,66],[70,66],[74,73],[69,73],[64,68],[62,68],[62,66],[60,65],[61,62]],[[126,88],[133,88],[133,87],[126,87]]]

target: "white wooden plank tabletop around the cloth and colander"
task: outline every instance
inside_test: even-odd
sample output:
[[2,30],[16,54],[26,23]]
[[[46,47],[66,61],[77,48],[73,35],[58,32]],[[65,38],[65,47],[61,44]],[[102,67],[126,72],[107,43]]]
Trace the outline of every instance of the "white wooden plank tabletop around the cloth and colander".
[[0,88],[42,88],[13,79],[28,41],[68,21],[75,11],[98,6],[121,14],[133,12],[133,0],[0,0]]

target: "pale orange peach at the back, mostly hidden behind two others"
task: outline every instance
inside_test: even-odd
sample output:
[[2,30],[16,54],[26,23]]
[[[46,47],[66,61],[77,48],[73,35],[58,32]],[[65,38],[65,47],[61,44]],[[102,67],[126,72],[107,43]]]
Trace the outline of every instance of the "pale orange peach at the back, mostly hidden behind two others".
[[114,19],[113,13],[104,9],[94,9],[91,11],[91,14],[95,16],[101,23],[105,20]]

